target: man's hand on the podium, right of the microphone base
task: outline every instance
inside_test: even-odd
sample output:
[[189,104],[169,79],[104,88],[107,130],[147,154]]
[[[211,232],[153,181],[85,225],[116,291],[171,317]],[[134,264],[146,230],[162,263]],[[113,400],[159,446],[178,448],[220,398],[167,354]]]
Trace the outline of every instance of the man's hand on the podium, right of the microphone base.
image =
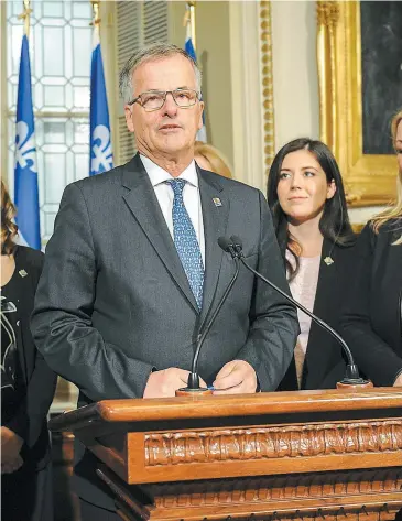
[[218,372],[214,394],[252,393],[257,389],[257,375],[245,360],[232,360]]

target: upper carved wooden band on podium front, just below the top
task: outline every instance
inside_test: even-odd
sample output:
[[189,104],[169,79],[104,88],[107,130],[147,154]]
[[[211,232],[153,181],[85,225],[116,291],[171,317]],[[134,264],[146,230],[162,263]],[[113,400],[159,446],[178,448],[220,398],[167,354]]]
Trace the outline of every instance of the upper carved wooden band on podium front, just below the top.
[[146,434],[145,466],[402,449],[402,420]]

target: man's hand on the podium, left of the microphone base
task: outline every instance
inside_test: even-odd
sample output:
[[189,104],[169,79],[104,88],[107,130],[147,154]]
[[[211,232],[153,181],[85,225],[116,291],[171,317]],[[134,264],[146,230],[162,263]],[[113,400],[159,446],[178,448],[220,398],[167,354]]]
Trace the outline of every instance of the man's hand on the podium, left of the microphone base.
[[[174,397],[177,389],[187,387],[188,375],[189,371],[178,369],[177,367],[151,372],[143,398]],[[202,378],[199,379],[199,384],[200,387],[207,387]]]

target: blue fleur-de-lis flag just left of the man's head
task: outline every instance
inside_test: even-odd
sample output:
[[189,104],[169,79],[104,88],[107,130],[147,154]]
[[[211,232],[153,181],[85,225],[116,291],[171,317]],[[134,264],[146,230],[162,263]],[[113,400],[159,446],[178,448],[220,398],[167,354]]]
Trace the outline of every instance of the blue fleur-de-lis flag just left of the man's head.
[[108,99],[106,96],[106,83],[98,25],[95,25],[94,29],[93,59],[90,66],[89,119],[89,175],[96,175],[113,167]]

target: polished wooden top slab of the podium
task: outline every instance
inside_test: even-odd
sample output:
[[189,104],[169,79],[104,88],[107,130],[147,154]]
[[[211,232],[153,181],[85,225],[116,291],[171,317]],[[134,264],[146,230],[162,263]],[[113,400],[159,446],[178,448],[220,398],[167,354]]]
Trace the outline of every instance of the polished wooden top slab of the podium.
[[402,415],[402,388],[104,400],[61,414],[50,422],[50,428],[79,430],[99,422],[140,423],[374,410],[389,410],[390,416]]

